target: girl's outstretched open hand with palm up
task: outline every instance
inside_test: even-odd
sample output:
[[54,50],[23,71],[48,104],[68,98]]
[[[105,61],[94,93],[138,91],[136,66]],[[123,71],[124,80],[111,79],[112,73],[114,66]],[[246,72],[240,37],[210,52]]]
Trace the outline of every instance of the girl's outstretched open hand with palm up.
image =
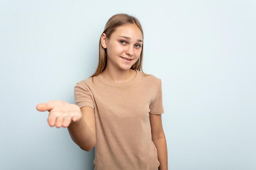
[[56,126],[56,128],[66,128],[71,122],[79,121],[82,117],[79,106],[61,100],[40,103],[36,109],[41,112],[49,111],[48,124],[51,127]]

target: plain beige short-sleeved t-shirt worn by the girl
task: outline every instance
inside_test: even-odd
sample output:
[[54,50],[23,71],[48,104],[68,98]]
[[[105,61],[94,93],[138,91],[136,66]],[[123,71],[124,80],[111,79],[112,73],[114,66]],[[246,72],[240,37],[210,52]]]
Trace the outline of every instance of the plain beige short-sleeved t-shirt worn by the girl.
[[101,74],[74,87],[76,105],[94,109],[94,170],[158,170],[149,114],[162,114],[162,81],[154,75],[113,83]]

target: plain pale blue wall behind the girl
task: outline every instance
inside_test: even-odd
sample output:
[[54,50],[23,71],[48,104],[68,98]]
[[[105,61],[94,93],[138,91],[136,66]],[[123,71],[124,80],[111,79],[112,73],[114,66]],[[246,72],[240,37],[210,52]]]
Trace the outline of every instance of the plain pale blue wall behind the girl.
[[0,2],[0,169],[92,170],[50,100],[74,104],[108,19],[144,29],[143,71],[162,79],[169,170],[256,169],[255,0]]

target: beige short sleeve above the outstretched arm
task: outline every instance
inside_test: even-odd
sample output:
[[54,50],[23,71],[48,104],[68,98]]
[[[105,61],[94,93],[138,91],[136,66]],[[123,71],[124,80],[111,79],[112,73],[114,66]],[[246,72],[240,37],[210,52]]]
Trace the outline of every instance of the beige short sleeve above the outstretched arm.
[[76,83],[74,87],[74,97],[76,105],[80,108],[83,106],[90,106],[94,110],[94,102],[92,100],[92,95],[89,92],[89,88],[81,82]]

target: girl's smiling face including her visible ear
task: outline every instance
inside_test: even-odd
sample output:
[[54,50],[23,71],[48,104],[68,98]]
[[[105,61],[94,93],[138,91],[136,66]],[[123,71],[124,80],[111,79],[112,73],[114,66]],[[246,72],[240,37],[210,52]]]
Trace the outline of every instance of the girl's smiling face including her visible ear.
[[107,67],[114,66],[127,70],[139,59],[143,36],[136,24],[119,26],[110,39],[106,39],[106,34],[103,33],[101,44],[107,49]]

